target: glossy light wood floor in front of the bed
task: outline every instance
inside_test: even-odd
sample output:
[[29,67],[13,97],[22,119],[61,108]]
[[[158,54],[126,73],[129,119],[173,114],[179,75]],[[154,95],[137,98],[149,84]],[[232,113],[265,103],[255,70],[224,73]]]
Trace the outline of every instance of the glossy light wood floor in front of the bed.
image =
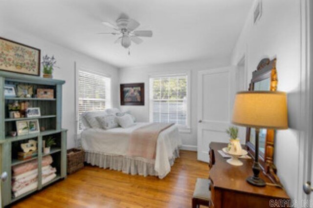
[[162,180],[85,166],[66,180],[13,204],[14,208],[190,208],[197,178],[208,177],[197,153],[180,151],[172,171]]

